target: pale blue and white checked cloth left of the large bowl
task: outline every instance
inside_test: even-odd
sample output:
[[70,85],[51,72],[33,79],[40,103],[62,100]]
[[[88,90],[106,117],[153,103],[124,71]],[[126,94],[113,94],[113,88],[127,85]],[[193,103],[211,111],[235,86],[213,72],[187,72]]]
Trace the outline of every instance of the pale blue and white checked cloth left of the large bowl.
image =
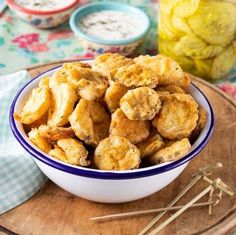
[[0,76],[0,214],[33,196],[47,180],[9,125],[11,102],[29,79],[25,70]]

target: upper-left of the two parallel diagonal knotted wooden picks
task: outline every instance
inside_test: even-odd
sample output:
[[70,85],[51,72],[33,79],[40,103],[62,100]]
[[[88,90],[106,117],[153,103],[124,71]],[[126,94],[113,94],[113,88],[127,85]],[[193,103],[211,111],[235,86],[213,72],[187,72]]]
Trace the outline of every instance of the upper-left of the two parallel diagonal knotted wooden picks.
[[[219,167],[223,167],[221,162],[215,164],[209,164],[205,167],[199,168],[196,174],[193,175],[192,181],[167,205],[167,208],[171,208],[180,198],[182,198],[202,177],[205,175],[211,175],[211,170]],[[158,214],[138,235],[145,234],[155,223],[167,212],[165,210]]]

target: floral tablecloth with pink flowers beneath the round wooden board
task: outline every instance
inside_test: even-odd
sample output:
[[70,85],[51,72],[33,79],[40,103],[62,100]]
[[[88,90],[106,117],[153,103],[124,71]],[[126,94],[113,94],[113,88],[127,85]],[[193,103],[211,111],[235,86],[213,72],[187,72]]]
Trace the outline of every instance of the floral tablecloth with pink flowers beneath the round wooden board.
[[[84,0],[81,3],[86,3]],[[93,0],[92,2],[97,2]],[[158,0],[119,0],[142,8],[152,19],[151,30],[138,49],[140,54],[157,53]],[[68,24],[40,30],[14,17],[7,9],[0,15],[0,74],[55,60],[92,57],[74,37]],[[236,77],[217,84],[236,99]]]

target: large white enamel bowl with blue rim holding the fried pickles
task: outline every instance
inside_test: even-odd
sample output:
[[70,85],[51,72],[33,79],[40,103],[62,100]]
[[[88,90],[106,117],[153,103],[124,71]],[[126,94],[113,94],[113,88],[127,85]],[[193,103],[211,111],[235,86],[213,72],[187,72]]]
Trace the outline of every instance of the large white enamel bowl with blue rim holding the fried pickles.
[[211,105],[205,95],[191,84],[188,92],[208,113],[206,126],[193,144],[190,152],[181,159],[156,166],[127,170],[102,171],[73,166],[56,160],[34,146],[23,129],[22,124],[13,118],[20,113],[30,92],[42,77],[50,76],[57,68],[40,74],[28,82],[16,95],[10,109],[10,125],[19,143],[31,154],[36,164],[55,184],[66,191],[96,202],[119,203],[140,199],[151,195],[171,183],[197,156],[209,141],[214,125]]

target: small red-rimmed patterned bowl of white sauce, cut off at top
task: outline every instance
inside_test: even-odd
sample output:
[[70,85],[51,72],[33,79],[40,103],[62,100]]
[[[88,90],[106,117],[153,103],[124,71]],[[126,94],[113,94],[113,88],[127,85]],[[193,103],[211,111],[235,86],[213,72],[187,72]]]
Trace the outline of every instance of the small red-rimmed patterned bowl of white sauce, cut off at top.
[[52,28],[69,20],[78,0],[7,0],[12,12],[36,28]]

